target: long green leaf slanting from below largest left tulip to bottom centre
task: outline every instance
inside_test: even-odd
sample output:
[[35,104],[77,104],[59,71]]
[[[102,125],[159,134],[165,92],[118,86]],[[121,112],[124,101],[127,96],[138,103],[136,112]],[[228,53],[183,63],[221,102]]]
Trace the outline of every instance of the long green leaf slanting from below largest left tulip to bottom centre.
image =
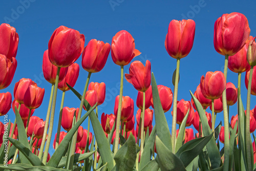
[[[67,83],[67,85],[70,88],[70,90],[81,100],[82,96],[74,88],[69,86],[68,83]],[[84,104],[84,106],[86,106],[87,110],[91,108],[91,106],[87,100],[84,100],[83,104]],[[112,151],[111,151],[110,145],[108,143],[109,141],[108,141],[108,139],[106,139],[106,136],[102,129],[102,126],[101,126],[96,114],[94,113],[94,111],[92,111],[90,113],[90,119],[92,122],[93,131],[94,131],[95,138],[96,138],[96,141],[98,144],[98,149],[99,149],[99,153],[101,155],[102,162],[103,162],[103,164],[108,163],[107,168],[109,170],[111,170],[114,167],[114,162],[113,162],[113,157],[112,157]]]

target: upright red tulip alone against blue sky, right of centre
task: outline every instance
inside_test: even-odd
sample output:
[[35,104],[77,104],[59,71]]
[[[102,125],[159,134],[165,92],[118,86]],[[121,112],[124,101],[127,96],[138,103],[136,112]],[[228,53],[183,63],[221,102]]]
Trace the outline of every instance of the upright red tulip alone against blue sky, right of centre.
[[173,19],[165,38],[165,49],[173,58],[183,58],[193,47],[196,23],[192,19]]

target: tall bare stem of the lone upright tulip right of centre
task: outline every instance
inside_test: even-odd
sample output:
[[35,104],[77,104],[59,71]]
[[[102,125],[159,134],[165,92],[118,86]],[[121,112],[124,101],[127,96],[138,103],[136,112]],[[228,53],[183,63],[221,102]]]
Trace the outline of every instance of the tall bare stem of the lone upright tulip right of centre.
[[175,146],[176,146],[176,120],[177,120],[179,72],[180,72],[180,58],[177,58],[176,76],[175,76],[175,83],[174,83],[174,106],[173,106],[173,125],[172,125],[173,153],[175,153]]

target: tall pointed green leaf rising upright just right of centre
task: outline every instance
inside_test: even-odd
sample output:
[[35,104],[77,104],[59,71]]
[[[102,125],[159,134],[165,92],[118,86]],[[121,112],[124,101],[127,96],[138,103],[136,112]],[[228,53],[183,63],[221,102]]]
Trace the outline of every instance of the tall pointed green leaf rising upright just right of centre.
[[154,103],[154,110],[155,110],[157,136],[160,138],[163,144],[168,149],[170,149],[170,152],[172,152],[172,139],[170,138],[168,123],[166,121],[166,118],[163,112],[162,104],[159,97],[159,92],[157,89],[157,82],[153,72],[152,72],[152,94],[153,94],[153,103]]

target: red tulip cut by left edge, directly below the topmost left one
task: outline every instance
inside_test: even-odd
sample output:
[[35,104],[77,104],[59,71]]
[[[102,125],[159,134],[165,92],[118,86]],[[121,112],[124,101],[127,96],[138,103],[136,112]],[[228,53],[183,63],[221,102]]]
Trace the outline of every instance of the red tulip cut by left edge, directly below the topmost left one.
[[[0,36],[1,36],[1,32],[0,32]],[[1,38],[0,38],[0,44],[1,44]],[[5,89],[10,85],[16,68],[17,68],[17,60],[14,57],[12,58],[12,61],[11,61],[5,55],[0,54],[0,90]]]

